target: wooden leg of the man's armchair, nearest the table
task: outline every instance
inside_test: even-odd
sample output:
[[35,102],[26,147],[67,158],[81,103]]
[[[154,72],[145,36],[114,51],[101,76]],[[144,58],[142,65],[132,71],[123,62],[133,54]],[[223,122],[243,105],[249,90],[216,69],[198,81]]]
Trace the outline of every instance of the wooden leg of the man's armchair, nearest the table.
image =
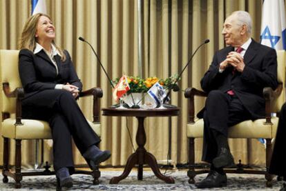
[[189,138],[189,170],[187,172],[189,183],[195,183],[195,138]]

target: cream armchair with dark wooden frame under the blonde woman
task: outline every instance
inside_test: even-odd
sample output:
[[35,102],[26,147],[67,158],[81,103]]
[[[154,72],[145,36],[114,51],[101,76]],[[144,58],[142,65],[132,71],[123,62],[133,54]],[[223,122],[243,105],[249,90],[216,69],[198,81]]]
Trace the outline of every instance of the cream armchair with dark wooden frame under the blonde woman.
[[[30,139],[51,139],[50,127],[46,121],[22,119],[21,118],[21,98],[23,88],[18,72],[19,50],[0,50],[0,70],[2,88],[2,123],[1,135],[3,137],[3,183],[8,183],[8,177],[15,179],[15,188],[21,188],[23,176],[49,175],[55,174],[48,170],[43,172],[21,172],[21,141]],[[102,97],[100,88],[92,88],[83,91],[79,97],[93,96],[93,122],[90,126],[100,136],[99,122],[99,98]],[[9,147],[10,139],[14,139],[15,145],[15,172],[10,171],[9,154],[14,148]],[[92,174],[93,184],[99,183],[100,171],[76,170],[75,174]]]

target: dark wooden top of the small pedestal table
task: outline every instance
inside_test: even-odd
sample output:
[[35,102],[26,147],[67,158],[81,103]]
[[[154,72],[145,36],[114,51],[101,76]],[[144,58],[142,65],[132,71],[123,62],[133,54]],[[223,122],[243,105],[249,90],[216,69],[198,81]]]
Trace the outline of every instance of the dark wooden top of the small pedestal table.
[[180,108],[164,108],[164,109],[102,108],[102,115],[105,116],[170,117],[170,116],[178,116],[179,114],[180,114]]

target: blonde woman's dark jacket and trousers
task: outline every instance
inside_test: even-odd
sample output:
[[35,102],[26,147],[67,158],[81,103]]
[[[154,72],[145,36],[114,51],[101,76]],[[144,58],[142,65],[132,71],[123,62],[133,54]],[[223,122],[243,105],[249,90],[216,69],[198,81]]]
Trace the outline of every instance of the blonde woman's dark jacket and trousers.
[[65,61],[58,54],[55,56],[57,74],[44,50],[37,54],[26,49],[19,52],[19,74],[25,91],[22,115],[26,119],[48,121],[53,135],[54,168],[68,167],[73,172],[71,136],[82,154],[100,139],[90,128],[73,94],[55,89],[57,84],[70,83],[82,90],[70,55],[66,50],[64,54]]

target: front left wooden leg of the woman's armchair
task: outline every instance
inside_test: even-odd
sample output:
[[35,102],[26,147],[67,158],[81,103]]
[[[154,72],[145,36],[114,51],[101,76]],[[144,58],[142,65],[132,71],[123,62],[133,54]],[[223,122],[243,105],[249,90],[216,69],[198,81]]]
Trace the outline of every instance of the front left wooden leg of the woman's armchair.
[[15,188],[21,188],[21,139],[16,139],[16,154],[15,154]]

